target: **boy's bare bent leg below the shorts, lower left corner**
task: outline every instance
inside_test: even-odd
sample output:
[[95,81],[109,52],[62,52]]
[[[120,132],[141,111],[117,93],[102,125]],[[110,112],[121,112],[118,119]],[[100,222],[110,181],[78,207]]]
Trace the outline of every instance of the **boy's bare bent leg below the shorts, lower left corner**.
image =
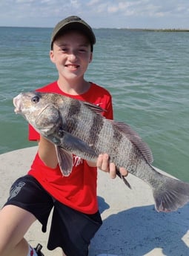
[[33,214],[19,208],[7,205],[0,211],[0,255],[27,256],[28,243],[24,234],[36,220]]

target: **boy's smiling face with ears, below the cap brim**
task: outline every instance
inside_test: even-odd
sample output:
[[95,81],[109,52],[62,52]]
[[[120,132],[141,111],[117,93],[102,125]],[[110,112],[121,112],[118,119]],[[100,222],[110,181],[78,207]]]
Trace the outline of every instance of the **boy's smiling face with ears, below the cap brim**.
[[59,76],[68,80],[83,76],[92,58],[87,36],[75,30],[59,36],[53,42],[53,50],[50,50],[50,59],[56,65]]

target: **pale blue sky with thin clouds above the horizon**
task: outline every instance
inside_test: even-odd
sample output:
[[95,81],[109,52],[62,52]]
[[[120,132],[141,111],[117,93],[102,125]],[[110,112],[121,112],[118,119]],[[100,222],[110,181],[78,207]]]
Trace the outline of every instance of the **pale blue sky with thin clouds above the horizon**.
[[188,0],[0,0],[0,26],[54,27],[71,15],[93,28],[189,29]]

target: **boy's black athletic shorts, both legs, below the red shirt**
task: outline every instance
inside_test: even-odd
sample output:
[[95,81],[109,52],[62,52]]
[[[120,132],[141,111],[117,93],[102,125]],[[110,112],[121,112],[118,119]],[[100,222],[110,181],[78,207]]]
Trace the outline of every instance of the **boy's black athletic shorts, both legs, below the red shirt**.
[[42,223],[46,232],[47,220],[53,209],[47,248],[61,247],[67,256],[87,256],[90,240],[102,225],[99,211],[83,214],[55,200],[30,175],[19,178],[10,188],[6,205],[30,211]]

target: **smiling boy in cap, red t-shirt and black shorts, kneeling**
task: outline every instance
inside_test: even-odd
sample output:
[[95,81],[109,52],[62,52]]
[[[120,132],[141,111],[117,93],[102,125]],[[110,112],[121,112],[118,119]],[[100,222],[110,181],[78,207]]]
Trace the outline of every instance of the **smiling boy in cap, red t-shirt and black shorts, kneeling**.
[[[105,117],[113,119],[110,93],[84,79],[95,42],[91,27],[77,16],[56,24],[50,59],[59,78],[37,91],[61,93],[100,105],[106,110]],[[96,167],[109,171],[110,177],[115,178],[115,165],[109,164],[107,154],[100,155],[96,163],[73,156],[73,171],[69,177],[63,177],[54,145],[31,126],[29,139],[39,140],[39,149],[30,171],[13,183],[10,197],[0,211],[0,255],[42,256],[40,246],[33,249],[24,240],[24,234],[36,219],[46,232],[53,209],[47,248],[61,247],[67,256],[87,256],[90,240],[102,225],[96,197]],[[127,174],[125,169],[120,171]]]

